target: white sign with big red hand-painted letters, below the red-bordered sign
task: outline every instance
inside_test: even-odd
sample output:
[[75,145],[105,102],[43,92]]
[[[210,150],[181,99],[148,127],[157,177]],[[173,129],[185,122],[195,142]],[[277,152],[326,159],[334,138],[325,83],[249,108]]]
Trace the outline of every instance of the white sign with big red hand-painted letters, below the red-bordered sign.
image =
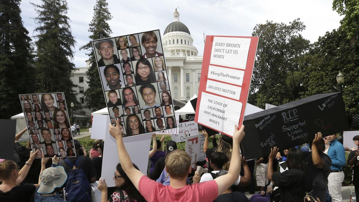
[[195,167],[197,161],[204,161],[206,159],[206,154],[203,152],[204,140],[203,133],[187,136],[186,138],[186,152],[192,159],[192,168]]

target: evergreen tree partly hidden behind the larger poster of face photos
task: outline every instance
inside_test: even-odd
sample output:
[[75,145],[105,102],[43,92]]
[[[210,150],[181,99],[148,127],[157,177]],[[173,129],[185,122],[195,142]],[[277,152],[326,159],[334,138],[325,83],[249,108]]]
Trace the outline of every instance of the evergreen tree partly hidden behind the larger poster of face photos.
[[[110,37],[112,33],[111,28],[108,25],[108,20],[112,19],[111,14],[108,11],[108,3],[106,0],[97,0],[96,5],[93,8],[93,17],[89,24],[89,32],[92,34],[89,36],[91,40],[97,40],[100,38]],[[86,72],[88,78],[89,87],[85,91],[85,101],[89,109],[99,110],[106,107],[106,100],[103,97],[103,90],[101,80],[98,73],[98,67],[94,55],[92,41],[89,41],[86,45],[81,46],[80,50],[87,50],[89,53],[90,68]]]

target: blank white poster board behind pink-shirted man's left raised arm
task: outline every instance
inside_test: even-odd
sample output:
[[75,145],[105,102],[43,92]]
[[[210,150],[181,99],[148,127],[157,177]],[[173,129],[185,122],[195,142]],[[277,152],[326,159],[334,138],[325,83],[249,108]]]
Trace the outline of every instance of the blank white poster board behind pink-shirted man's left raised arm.
[[[101,179],[106,180],[107,187],[115,187],[113,173],[116,170],[119,160],[116,139],[113,138],[108,131],[109,123],[110,120],[108,118],[106,127],[103,127],[103,133],[105,133],[105,144],[103,149]],[[132,162],[139,167],[142,173],[147,173],[151,133],[123,138],[123,144],[125,144],[126,150],[129,153]]]

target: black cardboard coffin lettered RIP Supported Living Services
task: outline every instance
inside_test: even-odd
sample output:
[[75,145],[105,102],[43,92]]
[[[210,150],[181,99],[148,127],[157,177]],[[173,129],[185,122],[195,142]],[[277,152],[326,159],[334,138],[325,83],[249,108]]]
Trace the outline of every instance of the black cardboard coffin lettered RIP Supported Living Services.
[[244,116],[246,135],[242,149],[246,159],[311,142],[317,132],[323,137],[348,129],[341,92],[306,97]]

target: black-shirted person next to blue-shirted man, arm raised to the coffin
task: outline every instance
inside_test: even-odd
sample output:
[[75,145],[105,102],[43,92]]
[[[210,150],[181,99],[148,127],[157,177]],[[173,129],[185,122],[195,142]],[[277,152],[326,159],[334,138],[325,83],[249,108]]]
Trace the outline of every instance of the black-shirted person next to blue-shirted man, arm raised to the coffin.
[[324,140],[319,132],[315,134],[310,151],[303,152],[307,162],[307,192],[313,193],[325,201],[327,197],[328,175],[330,174],[331,160],[324,151]]

